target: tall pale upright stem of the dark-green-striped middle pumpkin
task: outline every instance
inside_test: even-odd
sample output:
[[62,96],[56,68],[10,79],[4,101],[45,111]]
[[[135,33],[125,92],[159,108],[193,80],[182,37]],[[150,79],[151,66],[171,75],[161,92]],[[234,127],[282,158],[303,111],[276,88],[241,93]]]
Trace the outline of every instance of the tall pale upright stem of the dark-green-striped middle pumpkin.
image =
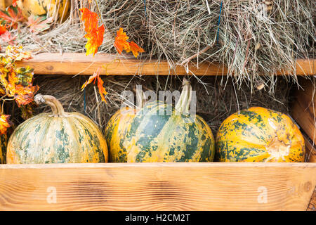
[[190,81],[185,78],[183,78],[182,86],[183,86],[183,89],[182,89],[179,101],[176,104],[176,111],[178,113],[188,115],[190,102],[192,98],[192,86],[190,84]]

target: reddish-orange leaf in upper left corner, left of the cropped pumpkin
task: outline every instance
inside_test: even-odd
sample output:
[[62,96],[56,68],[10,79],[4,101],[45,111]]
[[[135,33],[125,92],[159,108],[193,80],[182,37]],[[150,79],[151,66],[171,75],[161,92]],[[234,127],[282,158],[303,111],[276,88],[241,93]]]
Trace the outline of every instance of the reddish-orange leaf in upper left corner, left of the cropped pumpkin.
[[17,28],[18,23],[25,20],[22,11],[18,7],[10,6],[6,11],[0,11],[0,20],[4,20],[8,26]]

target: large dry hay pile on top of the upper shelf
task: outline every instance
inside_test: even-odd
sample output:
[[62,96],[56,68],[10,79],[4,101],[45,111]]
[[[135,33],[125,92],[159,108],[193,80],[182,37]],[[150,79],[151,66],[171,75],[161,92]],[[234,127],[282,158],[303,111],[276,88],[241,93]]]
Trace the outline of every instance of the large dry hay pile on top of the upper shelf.
[[[145,49],[140,58],[166,59],[170,65],[216,61],[229,68],[239,84],[274,86],[275,72],[294,68],[296,58],[313,57],[315,2],[309,0],[72,0],[65,23],[19,41],[32,51],[84,52],[86,39],[78,9],[100,12],[105,38],[99,51],[116,53],[119,27]],[[259,77],[258,75],[265,75]],[[295,72],[293,73],[296,79]]]

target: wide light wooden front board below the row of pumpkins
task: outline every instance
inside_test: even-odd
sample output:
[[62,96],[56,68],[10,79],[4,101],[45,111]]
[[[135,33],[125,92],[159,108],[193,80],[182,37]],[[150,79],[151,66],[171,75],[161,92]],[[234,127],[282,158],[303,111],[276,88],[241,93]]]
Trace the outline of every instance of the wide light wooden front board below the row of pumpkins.
[[316,163],[0,165],[0,210],[306,210]]

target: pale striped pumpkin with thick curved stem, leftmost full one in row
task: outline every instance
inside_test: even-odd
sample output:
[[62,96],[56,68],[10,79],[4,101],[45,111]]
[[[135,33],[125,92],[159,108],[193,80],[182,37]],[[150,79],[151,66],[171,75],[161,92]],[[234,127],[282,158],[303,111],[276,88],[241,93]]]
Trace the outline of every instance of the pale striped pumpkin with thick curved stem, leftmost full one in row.
[[107,162],[107,143],[92,120],[65,113],[53,96],[37,94],[34,101],[51,106],[53,113],[31,117],[13,131],[8,164]]

